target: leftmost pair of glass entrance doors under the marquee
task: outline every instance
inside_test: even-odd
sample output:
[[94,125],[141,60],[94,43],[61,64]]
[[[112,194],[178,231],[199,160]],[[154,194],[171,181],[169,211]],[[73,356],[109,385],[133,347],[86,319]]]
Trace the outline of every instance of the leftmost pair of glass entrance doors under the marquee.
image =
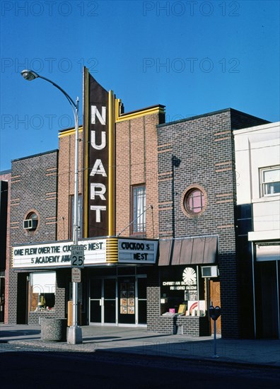
[[90,323],[116,323],[116,279],[91,279]]

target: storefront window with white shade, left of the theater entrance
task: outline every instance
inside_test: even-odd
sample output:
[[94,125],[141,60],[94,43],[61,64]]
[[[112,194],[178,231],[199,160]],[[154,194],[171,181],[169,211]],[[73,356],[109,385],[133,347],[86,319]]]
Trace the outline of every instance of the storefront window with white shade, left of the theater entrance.
[[30,274],[30,311],[47,312],[54,310],[55,272]]

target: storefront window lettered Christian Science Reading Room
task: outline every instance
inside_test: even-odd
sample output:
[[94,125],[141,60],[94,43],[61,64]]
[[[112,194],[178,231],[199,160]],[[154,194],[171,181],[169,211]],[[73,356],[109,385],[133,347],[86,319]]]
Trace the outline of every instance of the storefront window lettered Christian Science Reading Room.
[[199,267],[161,269],[161,315],[204,316],[204,279]]

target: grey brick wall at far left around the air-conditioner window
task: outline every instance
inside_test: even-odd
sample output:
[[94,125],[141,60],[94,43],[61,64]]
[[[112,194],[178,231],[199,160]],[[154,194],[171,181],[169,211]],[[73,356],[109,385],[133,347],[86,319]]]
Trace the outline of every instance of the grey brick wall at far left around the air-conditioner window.
[[[38,216],[35,231],[23,229],[23,221],[30,211]],[[46,242],[57,237],[57,150],[12,161],[10,242],[8,249],[19,244]],[[11,252],[11,251],[10,251]],[[21,304],[26,306],[26,284],[8,263],[7,323],[24,323],[19,314]],[[20,287],[18,289],[18,285]],[[22,299],[22,301],[21,301]],[[17,308],[18,307],[18,308]],[[18,318],[17,318],[18,316]]]

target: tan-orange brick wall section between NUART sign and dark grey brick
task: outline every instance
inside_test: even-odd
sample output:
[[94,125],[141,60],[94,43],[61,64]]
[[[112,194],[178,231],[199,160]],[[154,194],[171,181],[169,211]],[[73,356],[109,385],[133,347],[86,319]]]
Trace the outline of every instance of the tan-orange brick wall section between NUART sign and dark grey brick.
[[[158,114],[116,124],[116,234],[129,226],[131,186],[146,184],[146,237],[158,237]],[[129,236],[127,228],[122,236]]]

